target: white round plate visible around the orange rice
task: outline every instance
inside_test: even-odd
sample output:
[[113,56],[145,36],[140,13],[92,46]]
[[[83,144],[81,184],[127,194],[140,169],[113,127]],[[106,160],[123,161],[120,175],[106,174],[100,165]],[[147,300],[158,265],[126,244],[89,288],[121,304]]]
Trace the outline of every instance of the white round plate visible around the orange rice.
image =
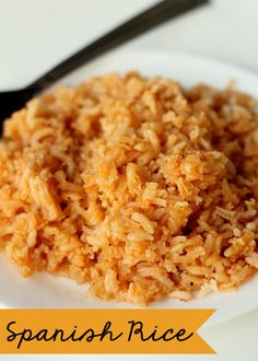
[[[77,84],[84,79],[110,71],[125,72],[139,70],[144,75],[165,75],[178,80],[185,86],[204,82],[224,88],[230,80],[236,88],[249,92],[258,98],[258,78],[247,71],[214,60],[200,59],[189,55],[160,51],[114,51],[81,68],[62,80],[62,83]],[[110,303],[85,300],[86,286],[54,278],[46,273],[22,278],[15,266],[0,255],[0,306],[1,307],[134,307],[125,303]],[[216,308],[216,313],[206,324],[211,326],[258,306],[258,275],[246,282],[236,293],[212,294],[203,300],[188,303],[167,300],[152,304],[159,308]]]

